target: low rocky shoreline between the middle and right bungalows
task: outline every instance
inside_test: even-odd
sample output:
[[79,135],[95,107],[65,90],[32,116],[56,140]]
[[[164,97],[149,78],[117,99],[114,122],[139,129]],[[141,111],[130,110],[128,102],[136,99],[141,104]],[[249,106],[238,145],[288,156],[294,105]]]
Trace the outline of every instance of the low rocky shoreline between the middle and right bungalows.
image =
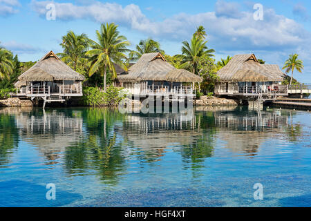
[[238,106],[238,101],[222,97],[201,96],[200,99],[194,99],[194,106]]

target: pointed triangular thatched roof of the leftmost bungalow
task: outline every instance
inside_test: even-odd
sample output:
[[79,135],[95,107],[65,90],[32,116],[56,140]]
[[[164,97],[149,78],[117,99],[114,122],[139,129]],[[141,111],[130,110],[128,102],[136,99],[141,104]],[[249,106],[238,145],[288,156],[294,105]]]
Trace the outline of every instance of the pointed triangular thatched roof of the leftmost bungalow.
[[67,66],[52,50],[19,76],[19,81],[83,81],[84,79],[83,75]]

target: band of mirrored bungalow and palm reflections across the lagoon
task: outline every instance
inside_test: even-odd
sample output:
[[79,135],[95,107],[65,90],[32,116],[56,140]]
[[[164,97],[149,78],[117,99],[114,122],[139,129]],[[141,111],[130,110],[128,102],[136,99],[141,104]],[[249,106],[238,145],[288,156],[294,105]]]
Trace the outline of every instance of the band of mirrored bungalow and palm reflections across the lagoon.
[[48,169],[61,164],[68,175],[98,175],[117,184],[130,164],[159,164],[178,153],[194,171],[213,157],[217,142],[254,157],[267,139],[301,136],[290,111],[248,111],[242,107],[198,107],[187,113],[122,115],[109,108],[0,110],[0,165],[7,165],[19,140],[35,146]]

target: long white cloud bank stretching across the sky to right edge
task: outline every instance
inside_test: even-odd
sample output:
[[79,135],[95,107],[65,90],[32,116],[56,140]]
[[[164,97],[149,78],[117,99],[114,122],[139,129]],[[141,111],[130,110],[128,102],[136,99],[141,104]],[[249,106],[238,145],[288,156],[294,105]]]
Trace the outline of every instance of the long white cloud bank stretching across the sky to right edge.
[[[50,1],[32,0],[32,8],[45,17]],[[209,41],[220,48],[270,48],[296,47],[310,38],[303,26],[272,9],[265,9],[264,20],[254,21],[253,12],[239,10],[237,3],[216,2],[216,12],[197,15],[180,13],[160,22],[148,19],[139,6],[130,4],[95,2],[78,6],[73,3],[55,3],[56,19],[92,19],[97,22],[115,22],[138,30],[149,36],[182,41],[191,37],[197,26],[205,26]]]

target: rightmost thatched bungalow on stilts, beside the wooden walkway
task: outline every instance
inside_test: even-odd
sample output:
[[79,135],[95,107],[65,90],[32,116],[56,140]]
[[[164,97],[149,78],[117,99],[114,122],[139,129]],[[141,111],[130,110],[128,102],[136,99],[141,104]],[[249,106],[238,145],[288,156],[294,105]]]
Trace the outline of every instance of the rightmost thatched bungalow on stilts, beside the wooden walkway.
[[260,64],[255,55],[235,55],[217,75],[216,95],[240,97],[263,97],[273,99],[288,95],[287,86],[282,86],[284,73],[274,64]]

